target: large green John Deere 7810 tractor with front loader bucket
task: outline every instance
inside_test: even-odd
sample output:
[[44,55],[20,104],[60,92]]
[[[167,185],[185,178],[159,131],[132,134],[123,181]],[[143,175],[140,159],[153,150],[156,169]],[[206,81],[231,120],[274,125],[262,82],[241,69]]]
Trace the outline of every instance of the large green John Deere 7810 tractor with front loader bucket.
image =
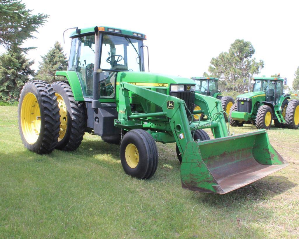
[[[149,179],[158,166],[155,142],[176,143],[182,187],[216,194],[288,165],[265,130],[230,136],[220,100],[196,93],[192,79],[145,72],[145,39],[119,28],[76,28],[68,70],[56,72],[65,81],[32,80],[22,89],[24,146],[38,154],[74,151],[85,132],[96,134],[120,143],[126,174]],[[194,104],[201,110],[194,111]],[[193,122],[194,114],[207,119]]]

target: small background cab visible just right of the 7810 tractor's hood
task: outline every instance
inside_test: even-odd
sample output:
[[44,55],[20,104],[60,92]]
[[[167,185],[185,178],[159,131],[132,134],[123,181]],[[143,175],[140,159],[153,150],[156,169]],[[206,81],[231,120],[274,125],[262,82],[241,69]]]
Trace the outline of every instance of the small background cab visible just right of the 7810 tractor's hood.
[[202,95],[212,96],[216,98],[218,92],[218,78],[214,77],[191,77],[196,82],[195,91]]

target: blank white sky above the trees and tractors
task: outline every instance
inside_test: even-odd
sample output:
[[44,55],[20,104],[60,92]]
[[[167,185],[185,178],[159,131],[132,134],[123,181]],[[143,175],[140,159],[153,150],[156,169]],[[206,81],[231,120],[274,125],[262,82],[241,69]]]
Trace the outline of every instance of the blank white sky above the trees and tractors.
[[24,0],[33,13],[50,15],[25,46],[36,46],[30,59],[38,69],[59,41],[67,56],[69,27],[96,25],[124,28],[147,35],[150,71],[184,77],[208,71],[212,57],[228,51],[235,39],[250,41],[254,57],[265,62],[260,76],[280,73],[291,86],[299,65],[298,1],[68,1]]

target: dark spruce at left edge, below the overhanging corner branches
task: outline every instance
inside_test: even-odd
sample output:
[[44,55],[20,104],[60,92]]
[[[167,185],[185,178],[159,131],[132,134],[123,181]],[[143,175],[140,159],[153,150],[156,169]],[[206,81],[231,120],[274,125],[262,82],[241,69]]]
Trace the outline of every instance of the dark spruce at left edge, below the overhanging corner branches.
[[33,61],[26,59],[22,49],[13,48],[0,55],[0,101],[13,102],[19,99],[23,85],[34,71]]

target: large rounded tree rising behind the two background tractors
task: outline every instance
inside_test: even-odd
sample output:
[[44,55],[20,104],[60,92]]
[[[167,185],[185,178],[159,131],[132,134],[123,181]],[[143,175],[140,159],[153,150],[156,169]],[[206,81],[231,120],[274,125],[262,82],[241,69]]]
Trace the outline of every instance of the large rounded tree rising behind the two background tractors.
[[219,78],[220,91],[242,93],[248,88],[243,79],[248,79],[249,73],[259,73],[264,67],[262,60],[257,62],[252,58],[254,52],[251,42],[237,39],[231,44],[228,52],[221,52],[218,57],[212,58],[208,68],[209,76]]

